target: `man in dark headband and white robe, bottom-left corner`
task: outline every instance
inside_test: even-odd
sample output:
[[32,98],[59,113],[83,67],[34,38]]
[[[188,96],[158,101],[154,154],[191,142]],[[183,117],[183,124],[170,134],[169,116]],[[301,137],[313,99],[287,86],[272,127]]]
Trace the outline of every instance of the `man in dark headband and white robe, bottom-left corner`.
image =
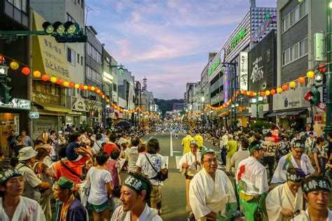
[[37,201],[22,197],[25,180],[18,169],[10,168],[0,173],[0,190],[4,197],[0,197],[0,220],[46,220],[43,210]]

